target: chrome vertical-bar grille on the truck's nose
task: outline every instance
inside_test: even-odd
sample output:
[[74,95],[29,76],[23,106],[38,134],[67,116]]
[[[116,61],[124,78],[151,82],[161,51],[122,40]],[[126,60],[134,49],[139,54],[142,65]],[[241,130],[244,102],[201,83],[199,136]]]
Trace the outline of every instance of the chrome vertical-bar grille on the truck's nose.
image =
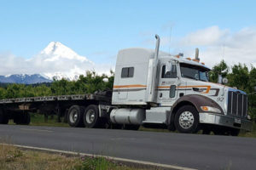
[[228,94],[228,115],[247,116],[247,95],[239,91],[229,91]]

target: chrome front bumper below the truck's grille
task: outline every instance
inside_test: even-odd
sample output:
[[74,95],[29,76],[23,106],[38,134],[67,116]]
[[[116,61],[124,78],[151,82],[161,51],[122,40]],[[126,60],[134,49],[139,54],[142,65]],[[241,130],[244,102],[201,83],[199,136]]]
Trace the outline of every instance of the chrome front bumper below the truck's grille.
[[251,121],[233,116],[219,115],[214,113],[199,113],[199,117],[201,123],[240,128],[247,131],[252,131],[253,127],[253,123]]

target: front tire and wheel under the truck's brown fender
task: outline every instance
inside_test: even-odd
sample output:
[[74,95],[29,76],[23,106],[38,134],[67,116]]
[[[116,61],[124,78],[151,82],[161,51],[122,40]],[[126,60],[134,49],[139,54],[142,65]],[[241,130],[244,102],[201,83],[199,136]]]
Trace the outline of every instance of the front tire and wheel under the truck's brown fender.
[[197,133],[200,127],[199,114],[192,105],[184,105],[177,110],[174,125],[180,133]]

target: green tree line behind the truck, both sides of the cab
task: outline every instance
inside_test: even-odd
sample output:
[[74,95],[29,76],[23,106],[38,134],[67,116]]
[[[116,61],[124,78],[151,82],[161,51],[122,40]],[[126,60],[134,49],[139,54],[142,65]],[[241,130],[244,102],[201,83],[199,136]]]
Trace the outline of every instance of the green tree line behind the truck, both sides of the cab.
[[[218,65],[214,65],[212,71],[209,72],[210,82],[218,82],[218,75],[228,78],[227,86],[236,87],[248,94],[248,112],[253,119],[256,119],[256,94],[253,94],[256,86],[256,68],[253,65],[248,68],[247,65],[241,63],[229,66],[222,60]],[[104,81],[105,79],[108,79],[108,82]],[[38,85],[2,84],[1,87],[0,99],[91,94],[97,90],[113,88],[113,71],[110,71],[110,76],[105,74],[99,76],[95,71],[87,71],[85,76],[80,75],[77,81],[54,79],[52,83]]]

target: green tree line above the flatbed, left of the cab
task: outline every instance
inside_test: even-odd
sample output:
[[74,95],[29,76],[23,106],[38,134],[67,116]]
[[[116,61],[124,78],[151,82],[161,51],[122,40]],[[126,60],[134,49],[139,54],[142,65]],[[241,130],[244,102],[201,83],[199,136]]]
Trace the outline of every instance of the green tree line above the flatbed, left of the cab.
[[[108,80],[108,81],[106,81]],[[13,99],[37,96],[91,94],[97,90],[113,88],[113,71],[108,75],[97,75],[95,71],[87,71],[86,75],[80,75],[76,81],[68,81],[62,78],[51,83],[42,84],[2,84],[0,99]]]

